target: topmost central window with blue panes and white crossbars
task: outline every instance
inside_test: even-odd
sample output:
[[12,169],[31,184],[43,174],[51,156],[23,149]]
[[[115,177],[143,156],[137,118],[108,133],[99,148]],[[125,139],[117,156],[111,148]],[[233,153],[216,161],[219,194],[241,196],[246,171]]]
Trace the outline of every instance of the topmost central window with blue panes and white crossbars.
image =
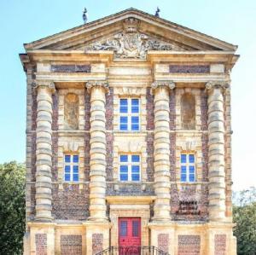
[[140,101],[138,98],[119,99],[119,130],[140,130]]

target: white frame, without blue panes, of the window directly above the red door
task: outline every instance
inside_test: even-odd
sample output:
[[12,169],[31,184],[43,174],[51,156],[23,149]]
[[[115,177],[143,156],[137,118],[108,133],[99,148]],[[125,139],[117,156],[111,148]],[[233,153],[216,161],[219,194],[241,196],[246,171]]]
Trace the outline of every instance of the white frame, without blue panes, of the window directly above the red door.
[[[127,156],[127,161],[121,162],[121,156]],[[132,161],[132,156],[138,156],[139,161]],[[119,182],[131,182],[131,183],[140,183],[142,181],[142,157],[140,154],[119,154]],[[126,165],[127,166],[127,180],[121,180],[121,166]],[[132,172],[132,166],[138,166],[139,171],[133,173]],[[124,173],[123,173],[124,174]],[[139,179],[138,180],[132,180],[132,175],[138,174]]]

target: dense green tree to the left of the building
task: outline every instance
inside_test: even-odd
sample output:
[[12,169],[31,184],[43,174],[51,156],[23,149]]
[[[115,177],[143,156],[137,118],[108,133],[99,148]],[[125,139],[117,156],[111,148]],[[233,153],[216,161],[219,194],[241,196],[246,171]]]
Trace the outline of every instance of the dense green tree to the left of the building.
[[0,165],[0,253],[22,254],[25,231],[25,165]]

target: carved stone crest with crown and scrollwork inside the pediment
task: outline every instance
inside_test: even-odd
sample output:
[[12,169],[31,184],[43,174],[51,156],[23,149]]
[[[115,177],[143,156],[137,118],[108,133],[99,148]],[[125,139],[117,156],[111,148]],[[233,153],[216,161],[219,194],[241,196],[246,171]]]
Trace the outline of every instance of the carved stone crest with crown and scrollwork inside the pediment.
[[90,44],[85,50],[113,50],[117,58],[145,59],[148,50],[172,50],[170,43],[149,38],[147,35],[137,32],[139,21],[128,18],[124,21],[125,32],[115,34],[113,38]]

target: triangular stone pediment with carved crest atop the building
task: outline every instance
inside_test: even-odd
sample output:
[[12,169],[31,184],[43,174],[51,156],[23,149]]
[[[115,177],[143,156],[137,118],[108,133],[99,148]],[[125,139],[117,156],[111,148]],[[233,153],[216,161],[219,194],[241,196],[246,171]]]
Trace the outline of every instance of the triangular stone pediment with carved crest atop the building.
[[84,52],[113,50],[114,55],[120,58],[144,58],[148,50],[236,50],[235,45],[137,9],[126,9],[48,38],[26,43],[25,48],[82,49]]

